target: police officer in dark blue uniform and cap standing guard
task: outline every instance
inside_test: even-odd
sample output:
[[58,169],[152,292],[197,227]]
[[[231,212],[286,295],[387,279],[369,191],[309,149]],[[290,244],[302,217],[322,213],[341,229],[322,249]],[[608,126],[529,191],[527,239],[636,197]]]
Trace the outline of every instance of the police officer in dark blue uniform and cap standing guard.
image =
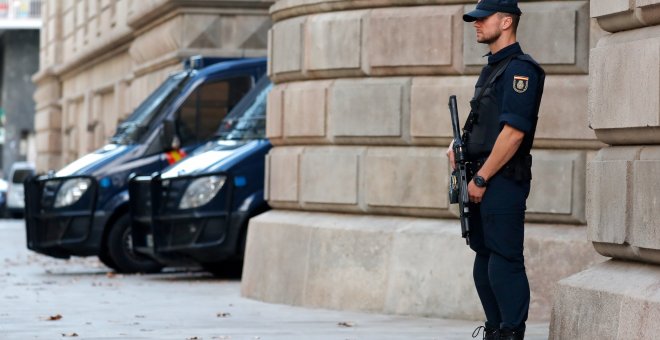
[[[463,20],[490,48],[464,127],[473,275],[486,314],[484,339],[523,339],[529,283],[523,258],[525,202],[545,73],[516,42],[517,0],[480,0]],[[454,154],[447,151],[450,164]]]

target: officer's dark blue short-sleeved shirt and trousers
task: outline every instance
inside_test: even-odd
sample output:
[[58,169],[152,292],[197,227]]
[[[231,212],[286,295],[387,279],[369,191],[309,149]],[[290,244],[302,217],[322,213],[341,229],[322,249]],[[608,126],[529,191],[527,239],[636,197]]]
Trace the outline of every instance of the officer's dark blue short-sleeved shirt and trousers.
[[[499,74],[490,78],[494,71]],[[473,174],[488,157],[504,125],[525,133],[516,155],[489,179],[481,203],[471,206],[470,247],[477,253],[474,281],[489,328],[524,329],[527,320],[529,283],[523,257],[525,202],[531,180],[529,152],[544,78],[540,66],[515,43],[488,55],[488,65],[476,85],[475,97],[483,87],[486,90],[476,108],[473,103],[478,119],[467,146],[468,160],[474,164]]]

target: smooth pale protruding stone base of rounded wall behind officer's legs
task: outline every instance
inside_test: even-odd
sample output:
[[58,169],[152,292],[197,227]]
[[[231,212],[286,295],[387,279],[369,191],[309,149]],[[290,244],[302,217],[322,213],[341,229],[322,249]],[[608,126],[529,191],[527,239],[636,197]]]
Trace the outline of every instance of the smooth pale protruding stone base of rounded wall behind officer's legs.
[[[555,284],[604,260],[584,226],[527,224],[530,320],[549,320]],[[457,220],[273,210],[250,222],[246,297],[305,307],[484,318],[473,252]]]

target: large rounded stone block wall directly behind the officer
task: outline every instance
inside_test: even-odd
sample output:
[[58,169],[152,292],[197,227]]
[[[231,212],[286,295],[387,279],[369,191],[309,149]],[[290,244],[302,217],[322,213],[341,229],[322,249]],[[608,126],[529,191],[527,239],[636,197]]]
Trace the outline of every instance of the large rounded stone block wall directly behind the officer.
[[[420,5],[423,3],[424,5]],[[467,4],[469,3],[469,4]],[[270,302],[483,319],[473,253],[447,201],[448,97],[462,119],[487,47],[474,1],[282,0],[271,8],[266,196],[250,222],[243,295]],[[586,242],[586,1],[521,4],[523,48],[548,72],[526,258],[531,318],[557,280],[600,261]],[[594,37],[592,37],[592,35]]]

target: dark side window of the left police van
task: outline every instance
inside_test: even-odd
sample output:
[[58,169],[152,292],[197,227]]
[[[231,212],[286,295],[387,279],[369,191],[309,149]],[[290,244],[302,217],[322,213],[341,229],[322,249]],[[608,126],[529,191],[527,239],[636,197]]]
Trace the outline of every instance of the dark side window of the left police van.
[[182,145],[207,140],[227,113],[252,87],[249,76],[211,81],[197,87],[179,109],[177,135]]

